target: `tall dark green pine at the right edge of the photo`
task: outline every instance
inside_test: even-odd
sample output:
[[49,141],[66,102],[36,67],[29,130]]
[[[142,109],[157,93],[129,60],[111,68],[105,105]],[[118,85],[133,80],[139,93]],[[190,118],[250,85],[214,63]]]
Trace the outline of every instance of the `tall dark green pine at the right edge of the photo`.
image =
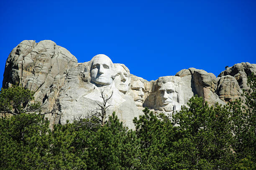
[[236,160],[250,157],[256,162],[256,77],[248,77],[248,87],[244,90],[245,106],[241,100],[228,104],[230,112],[231,131],[233,133],[232,149]]

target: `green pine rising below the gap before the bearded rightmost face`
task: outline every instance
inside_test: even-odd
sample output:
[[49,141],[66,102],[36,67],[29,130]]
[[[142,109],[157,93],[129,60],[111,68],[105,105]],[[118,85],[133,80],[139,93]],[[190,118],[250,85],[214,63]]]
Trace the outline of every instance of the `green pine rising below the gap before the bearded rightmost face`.
[[166,143],[166,126],[159,117],[146,107],[144,115],[133,120],[136,125],[136,135],[140,139],[139,169],[164,169],[164,160],[168,152]]

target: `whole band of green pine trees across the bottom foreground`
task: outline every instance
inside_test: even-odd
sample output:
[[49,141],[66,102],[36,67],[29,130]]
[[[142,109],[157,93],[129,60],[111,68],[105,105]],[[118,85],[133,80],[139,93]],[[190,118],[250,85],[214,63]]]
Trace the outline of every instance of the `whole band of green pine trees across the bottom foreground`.
[[[209,107],[192,97],[166,116],[148,108],[128,130],[115,112],[54,125],[31,104],[33,92],[2,89],[0,170],[251,170],[256,168],[255,77],[241,100]],[[33,111],[34,110],[34,111]]]

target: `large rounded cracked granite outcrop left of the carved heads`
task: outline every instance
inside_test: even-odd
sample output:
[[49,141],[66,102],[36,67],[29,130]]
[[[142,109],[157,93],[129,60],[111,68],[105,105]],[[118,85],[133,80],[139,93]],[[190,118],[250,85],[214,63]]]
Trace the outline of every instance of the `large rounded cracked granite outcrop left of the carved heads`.
[[[76,64],[76,57],[51,40],[38,43],[24,40],[8,56],[3,87],[18,83],[34,91],[35,99],[43,104],[45,110],[52,110],[56,107],[67,70]],[[58,122],[55,114],[46,116],[51,124]]]

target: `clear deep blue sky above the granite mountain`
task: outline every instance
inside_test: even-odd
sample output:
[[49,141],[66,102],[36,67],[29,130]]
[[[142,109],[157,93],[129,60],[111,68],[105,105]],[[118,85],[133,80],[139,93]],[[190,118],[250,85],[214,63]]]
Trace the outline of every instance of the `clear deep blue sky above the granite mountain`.
[[256,0],[5,0],[0,37],[0,85],[23,40],[53,40],[78,62],[106,54],[146,80],[189,67],[218,76],[256,63]]

